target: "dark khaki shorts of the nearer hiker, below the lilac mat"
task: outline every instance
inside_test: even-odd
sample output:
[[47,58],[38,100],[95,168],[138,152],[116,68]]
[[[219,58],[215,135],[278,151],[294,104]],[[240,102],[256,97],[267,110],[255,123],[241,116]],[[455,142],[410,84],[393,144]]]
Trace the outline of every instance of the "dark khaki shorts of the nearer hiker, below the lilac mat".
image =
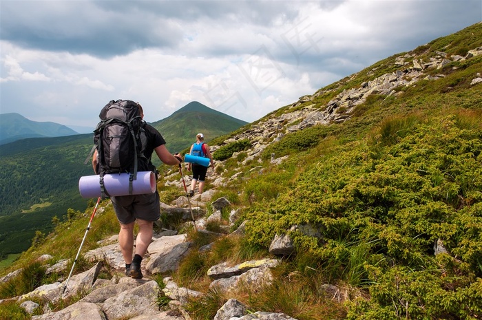
[[160,217],[159,193],[111,197],[117,220],[130,224],[136,219],[156,221]]

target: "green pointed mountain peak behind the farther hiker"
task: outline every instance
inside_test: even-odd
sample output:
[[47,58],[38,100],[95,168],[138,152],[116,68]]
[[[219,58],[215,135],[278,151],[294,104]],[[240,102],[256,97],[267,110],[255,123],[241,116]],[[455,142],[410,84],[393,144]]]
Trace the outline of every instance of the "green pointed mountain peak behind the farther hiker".
[[196,134],[202,133],[205,141],[228,134],[239,129],[247,122],[213,110],[202,103],[188,103],[171,116],[153,122],[156,129],[163,134],[166,147],[171,152],[180,152],[196,141]]

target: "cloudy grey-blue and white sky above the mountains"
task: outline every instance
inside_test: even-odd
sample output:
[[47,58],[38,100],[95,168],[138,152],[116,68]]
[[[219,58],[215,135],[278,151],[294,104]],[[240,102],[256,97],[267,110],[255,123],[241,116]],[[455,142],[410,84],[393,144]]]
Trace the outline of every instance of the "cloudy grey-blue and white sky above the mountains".
[[251,122],[482,21],[482,0],[0,3],[1,114],[84,132],[119,98]]

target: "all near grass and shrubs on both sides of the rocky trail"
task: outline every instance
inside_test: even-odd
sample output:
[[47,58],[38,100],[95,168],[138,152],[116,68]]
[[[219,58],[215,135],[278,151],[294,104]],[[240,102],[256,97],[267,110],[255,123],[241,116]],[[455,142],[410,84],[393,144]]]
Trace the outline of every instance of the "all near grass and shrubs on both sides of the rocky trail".
[[[344,90],[404,68],[395,63],[400,56],[430,61],[437,52],[465,55],[476,47],[482,47],[482,23],[379,61],[210,145],[228,149],[230,138],[273,117],[323,111]],[[231,152],[216,171],[237,175],[217,198],[242,209],[238,225],[246,222],[246,235],[221,239],[209,253],[193,251],[173,275],[207,293],[190,301],[191,318],[213,319],[227,301],[205,285],[210,266],[269,255],[275,235],[288,235],[295,250],[275,269],[273,284],[235,296],[250,310],[306,320],[481,319],[482,83],[472,84],[481,70],[482,55],[451,61],[394,94],[371,94],[342,122],[294,133],[284,123],[261,162],[240,165],[246,152]],[[286,159],[272,164],[273,153]],[[160,180],[163,199],[176,193],[163,184],[170,174],[164,171]],[[72,257],[72,239],[83,230],[82,222],[68,223],[69,230],[57,228],[9,270],[45,252]],[[103,215],[100,223],[85,250],[116,232],[113,217]],[[53,237],[67,246],[55,248]],[[189,237],[200,242],[198,233]]]

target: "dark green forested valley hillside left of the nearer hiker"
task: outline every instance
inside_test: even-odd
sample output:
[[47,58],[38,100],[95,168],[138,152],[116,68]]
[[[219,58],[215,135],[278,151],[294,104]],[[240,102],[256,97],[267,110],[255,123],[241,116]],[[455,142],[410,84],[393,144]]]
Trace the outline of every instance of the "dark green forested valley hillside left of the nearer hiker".
[[0,146],[0,257],[28,249],[36,231],[52,231],[52,217],[85,210],[78,178],[92,135],[31,138]]

